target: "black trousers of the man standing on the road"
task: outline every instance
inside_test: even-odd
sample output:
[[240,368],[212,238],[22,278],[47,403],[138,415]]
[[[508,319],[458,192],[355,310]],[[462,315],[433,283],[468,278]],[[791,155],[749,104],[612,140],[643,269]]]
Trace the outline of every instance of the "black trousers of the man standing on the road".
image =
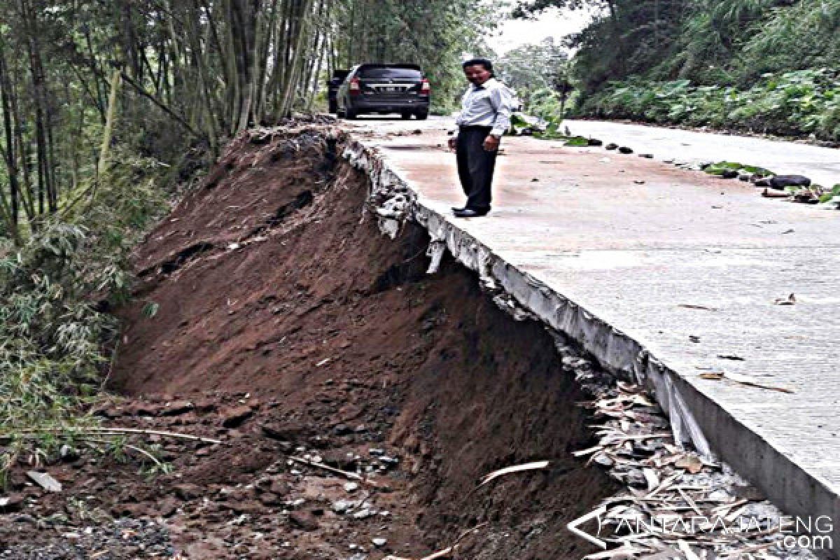
[[489,210],[493,198],[496,151],[488,152],[483,146],[490,131],[491,127],[461,127],[458,132],[458,176],[467,196],[466,207],[475,210]]

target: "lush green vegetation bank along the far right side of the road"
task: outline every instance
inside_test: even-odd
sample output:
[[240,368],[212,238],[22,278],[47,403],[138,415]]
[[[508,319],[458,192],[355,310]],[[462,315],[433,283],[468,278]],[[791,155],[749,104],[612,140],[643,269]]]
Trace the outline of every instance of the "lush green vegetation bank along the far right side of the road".
[[838,0],[531,0],[600,13],[568,40],[571,113],[840,142]]

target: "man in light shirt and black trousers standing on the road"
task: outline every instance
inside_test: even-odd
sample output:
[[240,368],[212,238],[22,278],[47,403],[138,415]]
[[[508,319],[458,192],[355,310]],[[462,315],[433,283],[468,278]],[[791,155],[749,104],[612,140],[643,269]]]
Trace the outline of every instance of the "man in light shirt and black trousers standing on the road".
[[463,67],[472,86],[461,102],[461,113],[455,121],[458,136],[449,139],[449,149],[455,150],[467,202],[465,207],[452,210],[455,217],[480,217],[490,212],[496,154],[501,135],[511,126],[513,96],[496,80],[490,60],[467,60]]

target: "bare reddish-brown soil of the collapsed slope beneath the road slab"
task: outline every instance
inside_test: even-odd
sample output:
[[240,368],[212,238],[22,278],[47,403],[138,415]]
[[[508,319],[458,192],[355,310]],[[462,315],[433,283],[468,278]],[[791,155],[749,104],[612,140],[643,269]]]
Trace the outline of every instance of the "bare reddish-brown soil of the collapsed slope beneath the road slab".
[[[425,275],[423,229],[382,237],[340,142],[320,130],[238,139],[134,256],[140,282],[111,379],[126,400],[101,413],[226,444],[163,440],[175,469],[151,479],[110,459],[58,463],[47,470],[61,495],[16,472],[30,513],[94,495],[88,507],[105,516],[165,519],[175,549],[200,558],[364,558],[351,544],[372,559],[422,557],[483,523],[457,557],[592,552],[565,524],[615,487],[570,455],[589,443],[584,396],[552,338],[514,322],[451,259]],[[291,455],[372,470],[378,486],[348,493]],[[475,489],[542,459],[549,470]],[[355,519],[333,511],[339,500],[389,515]]]

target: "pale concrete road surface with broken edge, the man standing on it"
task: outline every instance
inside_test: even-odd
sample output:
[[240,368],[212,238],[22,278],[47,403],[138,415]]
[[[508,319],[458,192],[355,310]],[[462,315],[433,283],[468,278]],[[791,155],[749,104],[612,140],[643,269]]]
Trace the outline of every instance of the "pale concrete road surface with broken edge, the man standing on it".
[[[457,220],[449,207],[464,197],[445,149],[450,126],[349,123],[419,204],[509,265],[507,287],[523,306],[574,331],[613,369],[665,379],[658,399],[672,416],[685,408],[701,439],[783,509],[833,516],[837,529],[840,212],[635,154],[513,138],[502,141],[491,215]],[[835,150],[609,123],[570,128],[660,157],[840,182]],[[791,294],[795,305],[777,305]],[[701,377],[713,372],[764,387]]]

